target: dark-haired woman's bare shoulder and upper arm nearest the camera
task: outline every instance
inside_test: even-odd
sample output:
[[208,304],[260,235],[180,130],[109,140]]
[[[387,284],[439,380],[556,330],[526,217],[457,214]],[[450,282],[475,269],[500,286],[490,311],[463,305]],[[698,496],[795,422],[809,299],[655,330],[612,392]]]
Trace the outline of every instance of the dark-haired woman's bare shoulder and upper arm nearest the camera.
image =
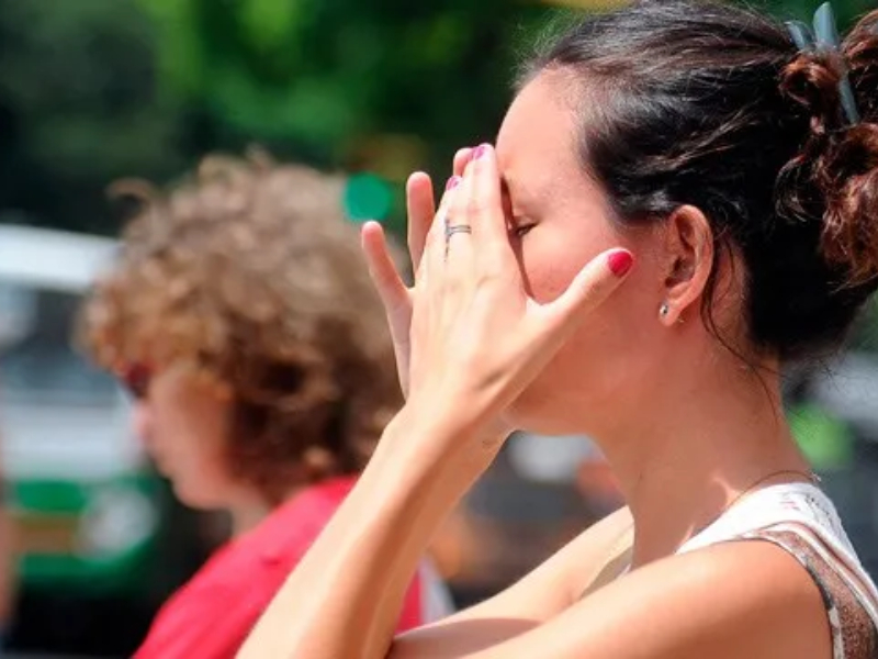
[[634,570],[514,643],[522,645],[485,657],[519,656],[506,651],[524,644],[558,659],[583,651],[617,659],[832,656],[811,576],[784,549],[758,541],[717,545]]

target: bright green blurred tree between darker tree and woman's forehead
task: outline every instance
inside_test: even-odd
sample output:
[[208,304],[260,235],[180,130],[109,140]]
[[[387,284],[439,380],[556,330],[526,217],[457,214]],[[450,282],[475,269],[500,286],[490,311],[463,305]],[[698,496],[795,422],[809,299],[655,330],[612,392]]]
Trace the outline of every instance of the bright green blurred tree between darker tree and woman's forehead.
[[547,15],[514,0],[140,1],[162,91],[226,138],[393,181],[493,137],[519,36]]

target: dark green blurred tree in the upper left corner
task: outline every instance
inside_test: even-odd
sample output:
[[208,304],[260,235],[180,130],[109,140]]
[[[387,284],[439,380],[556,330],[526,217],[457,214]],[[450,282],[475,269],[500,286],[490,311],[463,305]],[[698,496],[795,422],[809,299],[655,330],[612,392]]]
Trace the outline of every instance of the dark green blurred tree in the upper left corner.
[[135,0],[0,0],[4,221],[106,231],[110,180],[180,168],[153,43]]

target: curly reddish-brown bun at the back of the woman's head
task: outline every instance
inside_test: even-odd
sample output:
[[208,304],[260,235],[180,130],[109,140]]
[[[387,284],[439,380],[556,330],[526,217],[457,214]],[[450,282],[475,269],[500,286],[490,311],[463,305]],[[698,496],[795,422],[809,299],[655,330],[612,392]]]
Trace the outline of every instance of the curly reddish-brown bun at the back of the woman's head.
[[[781,171],[778,206],[793,221],[821,222],[820,248],[840,286],[878,284],[878,12],[841,53],[800,53],[780,90],[810,134]],[[863,119],[847,125],[838,85],[847,70]]]

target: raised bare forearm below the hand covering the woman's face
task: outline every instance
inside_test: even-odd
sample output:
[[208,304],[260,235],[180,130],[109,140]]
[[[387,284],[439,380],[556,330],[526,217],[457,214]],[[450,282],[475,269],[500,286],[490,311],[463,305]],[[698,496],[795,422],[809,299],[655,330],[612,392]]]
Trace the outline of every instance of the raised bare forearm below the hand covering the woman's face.
[[[357,487],[239,657],[386,655],[405,590],[436,527],[493,457],[468,447],[477,439],[459,436],[459,428],[413,422],[404,413],[389,426]],[[441,448],[450,446],[458,448]]]

